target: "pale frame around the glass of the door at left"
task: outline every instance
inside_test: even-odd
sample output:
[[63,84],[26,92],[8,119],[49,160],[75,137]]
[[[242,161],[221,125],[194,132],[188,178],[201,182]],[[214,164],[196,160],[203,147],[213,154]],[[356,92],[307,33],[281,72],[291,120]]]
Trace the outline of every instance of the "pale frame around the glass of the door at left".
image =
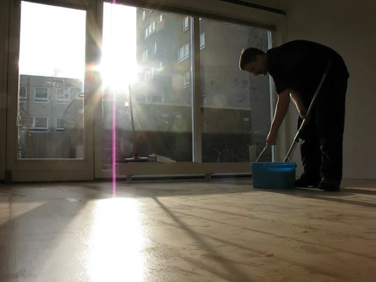
[[7,155],[6,171],[11,173],[12,181],[78,181],[94,179],[94,107],[98,73],[95,68],[98,58],[96,41],[97,28],[95,15],[96,1],[90,0],[87,5],[76,0],[26,0],[44,5],[62,8],[74,8],[86,11],[85,33],[85,77],[83,99],[83,159],[18,159],[18,92],[19,92],[19,50],[21,1],[11,2],[9,25],[9,58],[8,58],[8,93],[7,93]]

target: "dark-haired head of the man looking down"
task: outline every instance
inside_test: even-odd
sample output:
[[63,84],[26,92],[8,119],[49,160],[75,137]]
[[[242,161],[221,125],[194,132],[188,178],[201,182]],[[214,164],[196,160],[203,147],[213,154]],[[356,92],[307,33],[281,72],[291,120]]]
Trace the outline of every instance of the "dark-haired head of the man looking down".
[[254,75],[266,75],[268,73],[268,54],[253,47],[243,49],[240,54],[239,68]]

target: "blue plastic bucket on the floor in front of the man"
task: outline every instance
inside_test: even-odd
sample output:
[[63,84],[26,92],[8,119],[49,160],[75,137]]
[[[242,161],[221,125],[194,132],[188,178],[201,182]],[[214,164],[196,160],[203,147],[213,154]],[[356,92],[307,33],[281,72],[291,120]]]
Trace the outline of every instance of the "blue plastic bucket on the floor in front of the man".
[[294,189],[296,162],[251,163],[253,188]]

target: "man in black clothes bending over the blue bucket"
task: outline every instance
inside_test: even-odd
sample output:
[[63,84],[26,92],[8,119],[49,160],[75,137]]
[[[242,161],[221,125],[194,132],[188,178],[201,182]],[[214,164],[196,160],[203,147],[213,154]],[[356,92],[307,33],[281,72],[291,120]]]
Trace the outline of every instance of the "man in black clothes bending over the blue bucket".
[[266,141],[268,145],[275,145],[290,98],[299,112],[299,128],[329,60],[333,60],[332,66],[299,136],[303,174],[295,185],[335,191],[339,190],[342,180],[345,94],[349,79],[342,57],[322,44],[295,40],[267,52],[243,49],[239,68],[254,75],[269,72],[274,80],[278,101]]

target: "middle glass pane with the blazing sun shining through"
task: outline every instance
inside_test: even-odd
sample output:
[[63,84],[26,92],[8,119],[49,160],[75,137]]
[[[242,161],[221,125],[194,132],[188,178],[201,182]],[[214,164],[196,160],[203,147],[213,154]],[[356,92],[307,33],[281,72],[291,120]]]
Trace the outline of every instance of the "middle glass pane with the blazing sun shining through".
[[182,15],[104,3],[104,170],[113,150],[118,160],[154,153],[192,161],[189,23]]

